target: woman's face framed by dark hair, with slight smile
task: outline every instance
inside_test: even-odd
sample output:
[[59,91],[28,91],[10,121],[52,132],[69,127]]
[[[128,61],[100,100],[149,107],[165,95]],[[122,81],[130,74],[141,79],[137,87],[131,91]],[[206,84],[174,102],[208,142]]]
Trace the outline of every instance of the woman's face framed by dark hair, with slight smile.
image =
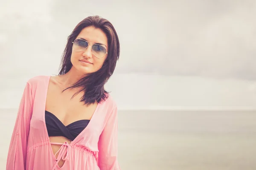
[[[81,40],[76,40],[73,43],[71,54],[73,68],[81,72],[81,74],[94,73],[102,68],[108,55],[105,54],[108,52],[108,38],[106,34],[99,28],[88,26],[82,29],[76,39]],[[89,42],[89,45],[83,40]],[[102,46],[92,46],[93,43]],[[87,48],[85,48],[86,46]]]

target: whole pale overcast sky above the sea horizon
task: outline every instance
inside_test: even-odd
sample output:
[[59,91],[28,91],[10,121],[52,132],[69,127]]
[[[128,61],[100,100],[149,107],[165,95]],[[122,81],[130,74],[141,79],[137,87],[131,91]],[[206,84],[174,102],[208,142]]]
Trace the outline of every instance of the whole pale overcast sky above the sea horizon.
[[119,35],[107,88],[120,108],[256,107],[254,0],[1,2],[0,107],[29,77],[58,74],[67,36],[96,14]]

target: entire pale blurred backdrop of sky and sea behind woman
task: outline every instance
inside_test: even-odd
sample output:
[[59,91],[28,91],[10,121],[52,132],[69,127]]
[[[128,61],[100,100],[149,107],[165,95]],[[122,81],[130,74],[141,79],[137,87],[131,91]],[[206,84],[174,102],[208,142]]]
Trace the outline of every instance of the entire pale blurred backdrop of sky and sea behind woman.
[[0,0],[1,170],[26,81],[90,15],[119,35],[122,170],[256,170],[255,0]]

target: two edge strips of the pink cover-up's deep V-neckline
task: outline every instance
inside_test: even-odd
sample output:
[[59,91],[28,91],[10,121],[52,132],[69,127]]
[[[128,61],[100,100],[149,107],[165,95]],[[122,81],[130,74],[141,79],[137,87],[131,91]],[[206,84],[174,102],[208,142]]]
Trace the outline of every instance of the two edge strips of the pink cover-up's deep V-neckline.
[[[43,113],[44,113],[43,122],[44,122],[44,128],[45,128],[45,133],[46,133],[45,135],[47,136],[47,141],[48,141],[49,143],[51,143],[51,142],[50,142],[50,139],[49,139],[48,130],[47,130],[47,127],[46,127],[46,122],[45,122],[45,107],[46,107],[47,92],[48,92],[48,89],[49,89],[49,83],[50,83],[51,77],[52,77],[52,76],[48,76],[48,77],[47,77],[48,79],[47,79],[46,93],[45,93],[45,95],[44,95],[44,111],[43,111]],[[102,103],[98,103],[98,104],[97,104],[96,109],[94,110],[93,115],[92,115],[92,117],[91,117],[91,119],[90,119],[90,122],[89,122],[88,125],[84,128],[84,130],[82,130],[81,133],[79,133],[79,135],[76,136],[76,138],[75,138],[73,141],[70,142],[70,146],[76,144],[76,140],[78,140],[79,137],[84,133],[84,131],[86,131],[86,130],[90,127],[90,124],[93,124],[93,119],[94,119],[95,114],[97,113],[97,111],[98,111],[98,109],[99,109],[99,106],[100,106],[101,104],[102,104]]]

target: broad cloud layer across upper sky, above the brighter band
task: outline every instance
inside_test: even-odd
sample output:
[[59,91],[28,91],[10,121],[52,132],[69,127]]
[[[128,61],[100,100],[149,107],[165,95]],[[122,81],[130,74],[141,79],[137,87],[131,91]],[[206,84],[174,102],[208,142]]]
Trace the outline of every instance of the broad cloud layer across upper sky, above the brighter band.
[[256,1],[17,2],[0,8],[0,71],[14,58],[25,61],[17,65],[22,71],[43,70],[29,65],[34,59],[58,68],[67,36],[79,21],[98,14],[119,35],[118,73],[256,79]]

